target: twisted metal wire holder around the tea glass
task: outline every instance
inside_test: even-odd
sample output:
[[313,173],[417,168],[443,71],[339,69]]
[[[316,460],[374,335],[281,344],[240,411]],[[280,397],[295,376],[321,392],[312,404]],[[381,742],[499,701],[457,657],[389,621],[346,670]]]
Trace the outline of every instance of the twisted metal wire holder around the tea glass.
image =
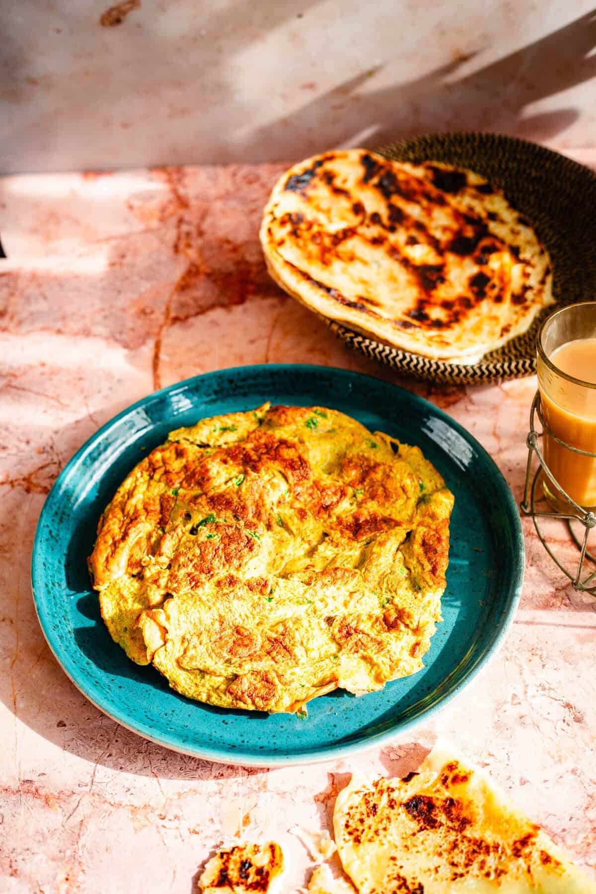
[[[536,415],[540,421],[542,426],[542,431],[537,432],[534,428],[534,415]],[[582,506],[579,506],[575,500],[572,500],[568,493],[566,493],[561,485],[558,484],[557,479],[552,475],[550,468],[547,466],[544,461],[544,457],[542,456],[540,447],[538,445],[538,440],[541,438],[542,434],[549,434],[553,441],[556,441],[561,447],[565,447],[566,450],[572,451],[574,453],[580,453],[582,456],[591,456],[596,459],[596,453],[592,453],[591,451],[579,450],[577,447],[572,447],[571,444],[565,443],[565,441],[561,441],[560,438],[557,437],[556,434],[553,434],[550,431],[549,426],[544,422],[544,418],[541,413],[541,400],[540,400],[540,392],[537,391],[534,394],[534,399],[532,401],[532,409],[530,410],[530,431],[528,432],[528,436],[526,438],[526,443],[528,447],[528,461],[525,467],[525,488],[524,488],[524,499],[519,504],[520,510],[525,515],[532,516],[534,527],[536,528],[536,534],[540,537],[541,544],[549,553],[552,561],[558,565],[558,568],[561,569],[563,574],[569,578],[572,582],[575,590],[580,590],[586,593],[591,593],[592,595],[596,595],[596,570],[593,570],[592,573],[588,574],[587,577],[582,579],[583,567],[586,561],[592,562],[596,565],[596,556],[592,555],[592,552],[588,551],[588,536],[590,536],[590,531],[593,527],[596,527],[596,515],[590,511],[583,509]],[[534,475],[532,476],[532,460],[533,454],[536,454],[538,460],[540,462],[539,468],[536,469]],[[569,504],[570,509],[575,511],[570,511],[569,513],[565,512],[540,512],[536,510],[536,485],[540,479],[541,471],[544,475],[549,479],[550,483],[556,488],[558,493],[561,493],[562,497]],[[571,534],[575,545],[578,547],[580,551],[579,561],[577,563],[577,570],[575,574],[571,574],[565,566],[561,565],[560,561],[558,561],[557,556],[550,549],[549,544],[546,542],[544,535],[541,532],[540,525],[538,523],[538,519],[561,519],[567,523],[567,528],[569,529],[569,533]],[[581,525],[583,525],[583,537],[578,537],[575,534],[575,530],[571,527],[571,523],[573,521],[578,521]]]

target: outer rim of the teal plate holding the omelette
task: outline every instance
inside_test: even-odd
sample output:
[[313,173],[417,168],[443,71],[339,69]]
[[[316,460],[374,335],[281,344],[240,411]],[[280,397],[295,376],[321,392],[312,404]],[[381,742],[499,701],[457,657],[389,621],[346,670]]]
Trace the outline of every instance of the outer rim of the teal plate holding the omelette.
[[[367,736],[363,741],[352,742],[348,743],[347,745],[334,746],[331,744],[328,746],[318,746],[316,748],[307,750],[304,754],[301,755],[272,755],[269,757],[258,757],[256,755],[250,756],[249,754],[243,755],[241,751],[236,754],[228,754],[222,752],[222,749],[217,746],[201,746],[200,748],[195,748],[192,746],[182,746],[180,745],[179,737],[176,735],[175,732],[171,733],[168,731],[160,730],[159,734],[156,735],[155,730],[153,730],[151,726],[147,725],[143,721],[135,721],[135,723],[132,724],[127,718],[126,714],[122,714],[120,711],[114,710],[112,705],[105,704],[105,700],[101,696],[97,696],[93,686],[90,687],[90,695],[88,689],[81,685],[77,679],[74,679],[72,677],[71,672],[63,663],[63,650],[53,641],[55,637],[51,633],[51,627],[49,624],[46,624],[46,620],[49,619],[50,613],[49,611],[47,611],[47,606],[45,604],[46,580],[43,571],[43,560],[40,555],[42,550],[42,520],[44,519],[44,516],[50,510],[52,510],[53,502],[57,499],[60,490],[64,487],[65,483],[68,481],[69,477],[71,477],[72,473],[78,467],[80,461],[84,458],[84,456],[93,449],[95,444],[99,442],[117,422],[119,422],[123,417],[129,415],[134,410],[146,406],[147,402],[159,400],[159,398],[164,396],[164,394],[166,393],[174,393],[177,390],[187,389],[189,387],[192,387],[193,384],[197,384],[199,381],[205,381],[206,378],[210,378],[212,376],[215,377],[223,374],[228,376],[229,379],[232,381],[234,375],[239,375],[242,373],[246,374],[248,371],[252,372],[253,374],[258,374],[258,372],[263,369],[267,369],[270,371],[279,370],[281,372],[282,370],[287,371],[297,367],[299,367],[300,370],[309,371],[312,374],[316,374],[317,372],[324,372],[326,374],[329,374],[331,372],[332,375],[339,375],[345,380],[372,380],[375,383],[382,383],[382,385],[387,387],[390,391],[392,391],[393,389],[397,389],[399,392],[404,392],[408,395],[408,398],[410,400],[418,402],[422,406],[431,409],[433,415],[440,417],[449,426],[454,428],[457,433],[460,434],[468,443],[473,443],[474,448],[477,451],[480,451],[480,453],[483,455],[484,460],[488,460],[492,471],[495,474],[496,480],[499,482],[499,489],[503,492],[508,517],[513,522],[513,524],[510,526],[513,539],[513,563],[510,583],[508,586],[508,595],[504,603],[504,609],[501,613],[499,629],[497,630],[496,634],[493,635],[490,644],[485,648],[483,654],[481,654],[478,661],[474,664],[474,667],[466,673],[465,677],[459,679],[457,684],[449,691],[449,693],[442,696],[441,700],[437,704],[433,704],[430,708],[427,708],[416,717],[399,723],[398,728],[394,727],[390,730],[385,730],[383,732],[377,733],[376,735]],[[435,406],[435,404],[433,404],[431,401],[427,401],[425,398],[420,397],[418,394],[410,392],[407,388],[402,388],[399,384],[388,382],[387,380],[382,379],[381,376],[359,373],[357,371],[345,369],[342,367],[327,367],[317,364],[300,363],[247,364],[240,367],[222,367],[222,369],[210,370],[206,373],[193,375],[187,379],[182,379],[180,382],[166,385],[164,388],[160,388],[155,392],[150,392],[144,397],[140,398],[138,401],[134,401],[129,406],[122,409],[115,416],[108,419],[103,426],[100,426],[97,431],[94,432],[87,439],[87,441],[82,443],[77,451],[75,451],[75,453],[71,456],[71,459],[68,460],[68,462],[60,472],[60,475],[55,479],[50,492],[47,494],[46,501],[44,502],[38,517],[35,537],[33,541],[33,549],[31,552],[30,566],[30,580],[33,603],[35,606],[38,623],[46,639],[46,643],[49,646],[50,651],[54,655],[56,662],[58,662],[67,678],[71,680],[71,683],[80,691],[83,696],[88,699],[91,704],[97,707],[97,709],[102,713],[105,713],[106,716],[110,717],[113,721],[120,723],[121,726],[125,727],[127,730],[130,730],[136,735],[154,742],[156,745],[164,746],[172,751],[176,751],[183,755],[190,755],[192,757],[212,761],[214,763],[227,763],[232,766],[250,767],[298,766],[309,763],[323,763],[341,760],[342,758],[348,756],[369,751],[374,747],[387,745],[391,741],[395,741],[396,738],[402,736],[408,730],[412,730],[416,726],[421,725],[421,723],[423,723],[424,721],[427,721],[434,713],[440,712],[441,709],[449,704],[454,698],[456,698],[460,694],[462,689],[466,688],[467,684],[471,682],[478,674],[480,674],[496,656],[496,654],[498,654],[499,649],[508,634],[508,630],[511,627],[516,614],[517,606],[519,604],[521,596],[522,586],[524,584],[524,573],[525,541],[521,519],[517,511],[515,497],[507,483],[506,478],[503,476],[503,473],[497,466],[497,463],[495,462],[495,460],[492,459],[491,454],[485,450],[483,445],[474,437],[473,434],[468,432],[467,429],[459,422],[457,422],[456,419],[450,417],[448,413]]]

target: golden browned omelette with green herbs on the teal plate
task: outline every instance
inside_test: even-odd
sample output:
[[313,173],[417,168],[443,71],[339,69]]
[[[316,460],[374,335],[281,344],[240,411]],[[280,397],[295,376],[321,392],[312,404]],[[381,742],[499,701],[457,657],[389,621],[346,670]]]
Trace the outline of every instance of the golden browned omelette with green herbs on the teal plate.
[[423,666],[452,505],[417,447],[267,404],[172,432],[105,510],[89,567],[133,661],[202,702],[300,712]]

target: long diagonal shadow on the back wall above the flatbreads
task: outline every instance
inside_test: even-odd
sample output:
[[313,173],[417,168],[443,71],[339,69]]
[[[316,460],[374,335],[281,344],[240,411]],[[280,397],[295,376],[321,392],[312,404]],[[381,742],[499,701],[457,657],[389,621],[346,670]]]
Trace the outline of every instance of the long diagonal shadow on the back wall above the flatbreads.
[[[565,132],[580,111],[566,105],[535,114],[526,109],[591,80],[594,45],[596,13],[591,12],[470,73],[460,70],[487,47],[459,53],[414,80],[375,88],[370,79],[380,64],[249,133],[244,156],[258,158],[260,147],[273,146],[276,157],[296,158],[437,131],[493,131],[546,142]],[[323,134],[322,121],[328,122]]]

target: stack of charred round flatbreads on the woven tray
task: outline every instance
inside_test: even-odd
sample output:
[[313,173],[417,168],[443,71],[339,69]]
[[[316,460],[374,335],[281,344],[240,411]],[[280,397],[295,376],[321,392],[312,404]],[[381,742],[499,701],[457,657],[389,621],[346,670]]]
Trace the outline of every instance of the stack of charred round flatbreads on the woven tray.
[[273,188],[261,242],[273,279],[308,307],[429,358],[473,363],[553,301],[532,224],[449,164],[309,158]]

